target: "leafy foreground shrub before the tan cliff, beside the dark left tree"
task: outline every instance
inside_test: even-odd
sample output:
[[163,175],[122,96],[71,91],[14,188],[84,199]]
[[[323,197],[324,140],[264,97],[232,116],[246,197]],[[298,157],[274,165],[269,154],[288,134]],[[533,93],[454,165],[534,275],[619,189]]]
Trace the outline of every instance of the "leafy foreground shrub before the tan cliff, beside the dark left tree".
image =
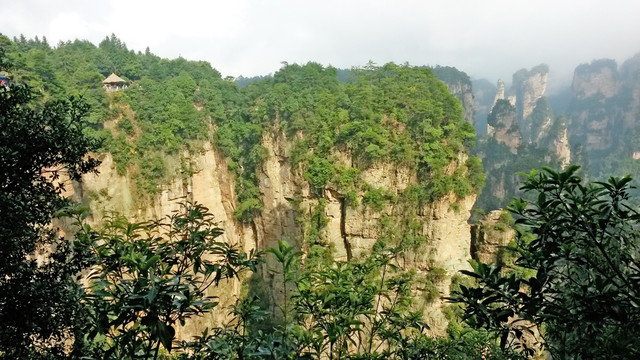
[[83,209],[67,213],[81,229],[75,246],[93,254],[78,355],[156,359],[160,349],[171,352],[176,327],[217,305],[207,289],[243,269],[255,271],[258,261],[253,252],[216,241],[222,229],[198,204],[183,203],[167,222],[113,217],[99,232],[82,224]]

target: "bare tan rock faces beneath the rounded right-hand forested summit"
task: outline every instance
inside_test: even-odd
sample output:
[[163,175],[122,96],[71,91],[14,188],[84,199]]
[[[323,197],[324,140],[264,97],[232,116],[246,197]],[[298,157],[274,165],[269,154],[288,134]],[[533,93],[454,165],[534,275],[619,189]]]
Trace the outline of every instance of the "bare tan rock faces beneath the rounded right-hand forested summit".
[[[312,195],[302,172],[295,167],[292,171],[291,143],[281,131],[267,132],[262,145],[269,156],[260,176],[264,209],[253,221],[253,235],[260,239],[256,242],[270,246],[277,239],[285,238],[296,241],[304,251],[309,251],[305,248],[309,226],[313,225],[309,220],[322,201],[322,215],[326,222],[320,230],[320,242],[333,249],[333,256],[338,261],[357,260],[368,254],[381,237],[394,236],[389,234],[396,233],[396,230],[399,234],[403,219],[412,218],[421,224],[416,235],[428,240],[404,259],[403,266],[415,270],[419,276],[427,276],[434,268],[444,270],[446,275],[437,284],[441,297],[435,302],[417,301],[430,320],[433,334],[444,334],[447,321],[442,313],[445,304],[442,298],[449,296],[451,277],[469,267],[470,225],[467,221],[475,195],[457,199],[450,194],[417,208],[407,207],[402,202],[389,202],[381,208],[374,208],[362,200],[355,206],[347,205],[347,194],[331,185],[324,190],[322,197]],[[349,153],[336,152],[334,156],[345,165],[354,161]],[[360,178],[371,187],[383,189],[391,195],[401,194],[418,183],[415,170],[384,162],[367,168]],[[365,195],[359,190],[357,198],[364,199]],[[271,282],[269,286],[275,288],[277,284]]]

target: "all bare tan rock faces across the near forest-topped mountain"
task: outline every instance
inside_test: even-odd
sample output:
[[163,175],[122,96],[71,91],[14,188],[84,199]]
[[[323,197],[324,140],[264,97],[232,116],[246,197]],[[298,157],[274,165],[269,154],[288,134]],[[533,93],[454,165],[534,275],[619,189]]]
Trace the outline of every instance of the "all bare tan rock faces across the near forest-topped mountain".
[[[291,141],[277,127],[264,133],[262,146],[267,157],[259,174],[260,197],[264,208],[260,215],[247,224],[238,222],[233,215],[236,209],[236,180],[227,170],[224,158],[208,143],[202,151],[187,155],[193,164],[193,174],[178,176],[161,186],[152,199],[142,201],[136,198],[133,181],[127,175],[118,175],[110,154],[102,156],[98,175],[85,175],[81,182],[74,184],[73,191],[68,195],[90,204],[93,212],[90,221],[93,222],[111,211],[139,221],[163,218],[177,210],[181,201],[194,200],[207,206],[214,214],[219,226],[224,229],[222,240],[239,244],[245,251],[264,250],[277,244],[278,239],[288,239],[308,251],[304,248],[304,238],[309,231],[308,221],[319,202],[323,201],[322,215],[326,218],[326,225],[321,229],[320,237],[325,246],[333,249],[334,258],[339,261],[358,259],[371,251],[382,233],[389,231],[381,225],[382,218],[412,216],[422,224],[418,234],[429,241],[406,258],[405,265],[422,274],[427,274],[435,267],[445,270],[447,275],[438,283],[438,288],[443,297],[449,295],[451,277],[468,267],[470,227],[467,220],[475,202],[474,195],[457,199],[451,194],[411,210],[393,202],[381,209],[373,209],[362,201],[356,206],[346,206],[345,194],[338,189],[328,187],[321,197],[312,196],[302,172],[291,166],[291,145]],[[352,161],[348,153],[340,156],[345,162]],[[361,176],[373,187],[396,194],[418,180],[414,170],[388,163],[371,166]],[[358,193],[360,199],[364,195],[364,192]],[[393,221],[391,226],[395,226]],[[264,275],[266,284],[277,298],[279,285],[269,272],[265,271]],[[242,294],[243,285],[240,281],[228,281],[210,290],[210,295],[219,297],[218,309],[225,309]],[[443,304],[443,300],[437,300],[421,305],[433,323],[434,334],[443,334],[446,329],[447,322],[441,312]],[[197,335],[204,327],[220,325],[225,320],[224,313],[213,312],[188,323],[180,330],[180,334],[184,337]]]

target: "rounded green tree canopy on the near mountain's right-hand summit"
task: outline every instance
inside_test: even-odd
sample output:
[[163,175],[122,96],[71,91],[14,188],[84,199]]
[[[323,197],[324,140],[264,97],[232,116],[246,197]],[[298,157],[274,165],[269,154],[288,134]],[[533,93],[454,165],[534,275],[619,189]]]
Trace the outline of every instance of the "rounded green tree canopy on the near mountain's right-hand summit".
[[285,65],[273,79],[247,89],[252,90],[250,108],[256,109],[252,123],[277,123],[286,130],[294,140],[292,163],[303,165],[316,195],[336,172],[342,189],[350,182],[344,165],[332,159],[335,150],[349,152],[357,172],[382,161],[417,169],[422,186],[434,189],[431,200],[451,191],[466,196],[481,186],[478,177],[472,184],[465,171],[445,174],[444,168],[473,144],[474,131],[463,121],[459,101],[430,69],[368,66],[351,70],[349,81],[341,84],[334,68]]

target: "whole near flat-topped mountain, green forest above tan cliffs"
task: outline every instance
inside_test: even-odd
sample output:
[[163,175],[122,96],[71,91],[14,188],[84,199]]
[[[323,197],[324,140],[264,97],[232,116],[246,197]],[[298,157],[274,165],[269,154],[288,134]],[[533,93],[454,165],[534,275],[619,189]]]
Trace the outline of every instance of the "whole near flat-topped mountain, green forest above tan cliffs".
[[[305,295],[333,307],[330,317],[356,306],[344,319],[350,330],[318,353],[344,353],[354,331],[365,336],[350,321],[371,311],[383,316],[389,308],[374,308],[373,300],[388,291],[401,296],[402,314],[418,311],[415,324],[430,327],[417,335],[442,336],[459,321],[444,311],[444,298],[457,286],[458,270],[469,268],[467,219],[484,174],[468,155],[474,130],[460,101],[431,69],[368,64],[345,76],[315,63],[291,64],[239,86],[206,62],[136,53],[115,36],[98,46],[76,40],[55,47],[2,37],[0,49],[12,63],[7,76],[31,84],[39,102],[79,95],[90,105],[84,132],[102,142],[102,164],[99,175],[69,184],[66,193],[89,206],[90,224],[100,226],[114,211],[132,221],[163,218],[196,201],[224,229],[221,238],[242,250],[266,250],[279,240],[299,249],[296,276],[320,281],[328,269],[348,267],[353,276],[322,280],[346,281],[346,298],[325,298],[320,284]],[[464,73],[437,70],[462,79],[469,93]],[[102,81],[111,73],[126,88],[106,91]],[[219,309],[258,296],[258,309],[270,315],[252,326],[284,321],[324,339],[329,330],[308,328],[314,323],[302,307],[310,304],[289,299],[290,280],[274,276],[278,264],[269,259],[250,279],[207,294],[219,297]],[[378,281],[387,265],[389,284],[384,275]],[[354,303],[361,299],[367,302]],[[290,300],[303,311],[296,317],[281,308]],[[381,320],[395,313],[384,314]],[[229,316],[209,313],[178,336],[221,327]],[[382,334],[369,330],[367,336]]]

